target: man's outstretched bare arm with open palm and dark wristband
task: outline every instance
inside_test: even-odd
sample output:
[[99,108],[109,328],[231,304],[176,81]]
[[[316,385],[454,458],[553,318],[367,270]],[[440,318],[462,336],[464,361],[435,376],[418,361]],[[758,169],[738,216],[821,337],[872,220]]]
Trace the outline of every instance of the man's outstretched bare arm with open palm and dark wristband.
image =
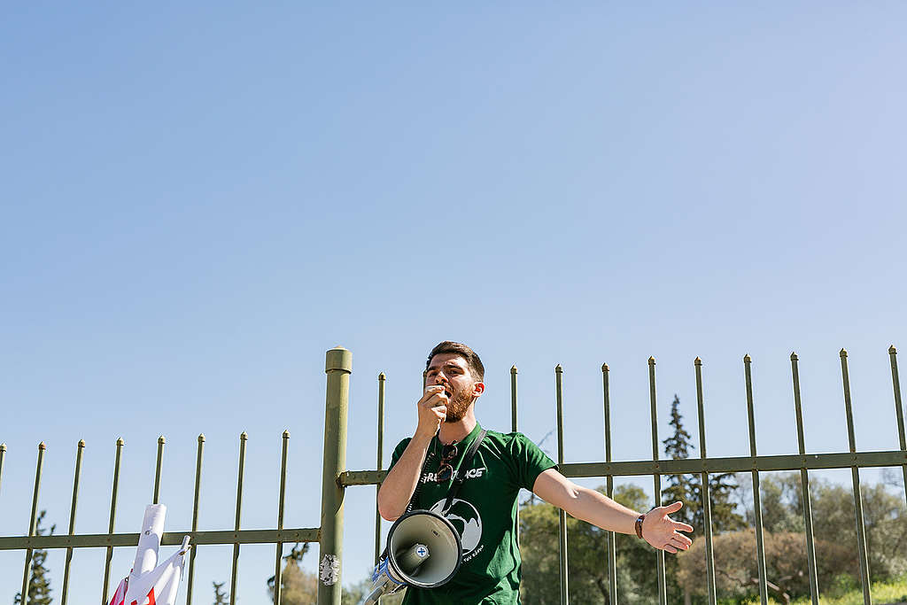
[[[532,486],[532,492],[547,503],[568,512],[603,530],[619,533],[636,533],[639,512],[616,503],[608,496],[571,482],[554,469],[541,473]],[[687,523],[672,521],[668,514],[680,510],[682,503],[659,506],[646,514],[642,524],[642,537],[657,549],[668,552],[686,551],[692,541],[679,532],[692,532]]]

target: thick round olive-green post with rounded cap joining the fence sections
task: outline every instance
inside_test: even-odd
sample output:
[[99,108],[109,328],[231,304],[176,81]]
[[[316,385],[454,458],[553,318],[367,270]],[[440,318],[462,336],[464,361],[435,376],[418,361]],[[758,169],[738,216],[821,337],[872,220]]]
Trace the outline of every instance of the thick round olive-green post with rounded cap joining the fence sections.
[[337,479],[346,469],[346,413],[353,354],[342,346],[327,351],[325,373],[325,453],[321,471],[321,535],[318,549],[318,605],[340,605],[344,488]]

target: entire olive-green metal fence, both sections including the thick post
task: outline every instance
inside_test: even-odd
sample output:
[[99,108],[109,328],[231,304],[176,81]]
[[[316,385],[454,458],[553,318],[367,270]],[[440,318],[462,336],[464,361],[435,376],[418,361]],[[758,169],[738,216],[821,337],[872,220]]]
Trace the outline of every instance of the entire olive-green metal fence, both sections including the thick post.
[[[604,407],[604,439],[605,461],[598,463],[564,463],[563,456],[563,387],[562,368],[557,366],[555,373],[555,394],[557,405],[557,438],[558,438],[558,464],[561,473],[568,477],[605,477],[606,490],[613,494],[613,479],[615,476],[646,476],[653,480],[655,505],[658,506],[661,494],[661,480],[663,474],[699,474],[701,476],[702,506],[704,511],[704,534],[706,540],[706,571],[708,602],[717,600],[715,584],[715,561],[712,551],[712,524],[710,510],[710,496],[708,492],[709,473],[752,473],[754,510],[756,512],[756,557],[759,570],[758,586],[760,599],[767,603],[768,592],[766,585],[766,558],[763,541],[763,522],[761,505],[759,502],[759,473],[766,471],[799,471],[803,485],[803,504],[805,521],[805,542],[809,567],[810,592],[814,605],[819,603],[819,587],[815,566],[815,548],[813,537],[813,514],[810,503],[809,471],[818,469],[849,468],[852,472],[853,496],[855,509],[855,522],[857,528],[857,542],[859,550],[860,573],[863,587],[863,601],[865,605],[872,603],[870,594],[869,565],[866,551],[866,532],[863,522],[863,503],[860,493],[860,468],[879,466],[901,466],[904,483],[907,485],[907,441],[904,436],[904,422],[902,412],[901,386],[897,366],[897,351],[894,346],[889,348],[892,369],[892,390],[894,396],[895,416],[897,420],[900,450],[889,452],[857,452],[853,435],[853,409],[851,405],[850,379],[847,370],[847,353],[841,350],[841,376],[844,388],[844,411],[846,415],[849,452],[836,454],[806,454],[803,415],[800,398],[800,378],[798,373],[798,359],[791,355],[791,375],[794,389],[795,416],[797,429],[797,442],[799,453],[791,455],[760,456],[756,454],[756,426],[753,413],[753,387],[750,371],[751,359],[744,357],[744,372],[746,376],[746,408],[749,425],[749,456],[726,458],[708,458],[706,454],[706,426],[703,413],[703,382],[702,361],[697,357],[694,362],[697,386],[697,416],[699,426],[699,448],[701,458],[688,458],[684,460],[659,460],[658,442],[658,417],[656,414],[657,395],[655,389],[655,359],[649,357],[649,401],[651,418],[652,459],[647,461],[618,462],[611,460],[611,431],[610,431],[610,395],[609,395],[609,368],[601,366],[602,397]],[[190,535],[195,545],[233,545],[233,564],[230,576],[229,602],[235,604],[237,571],[239,566],[239,548],[241,544],[275,544],[275,603],[281,598],[281,559],[283,544],[285,542],[319,542],[319,605],[339,605],[341,598],[340,561],[342,560],[343,537],[343,500],[346,487],[353,485],[379,485],[385,477],[386,471],[382,470],[383,442],[384,442],[384,408],[385,408],[385,375],[378,376],[378,425],[377,425],[377,458],[375,470],[347,471],[346,470],[346,419],[349,403],[349,375],[352,371],[352,354],[342,347],[327,351],[325,371],[327,373],[326,413],[324,433],[324,463],[322,469],[321,492],[321,519],[317,528],[287,529],[283,527],[285,487],[287,480],[287,451],[289,433],[283,434],[283,447],[280,467],[280,489],[278,494],[278,526],[268,530],[242,530],[239,526],[240,511],[242,508],[242,484],[246,454],[247,436],[239,436],[239,473],[237,478],[236,497],[236,522],[233,530],[225,531],[198,531],[199,518],[199,492],[202,471],[202,457],[204,453],[204,435],[199,435],[198,453],[196,457],[195,493],[192,508],[192,526],[190,531],[166,532],[161,540],[162,545],[178,545],[183,535]],[[511,368],[511,405],[512,405],[512,430],[517,430],[517,368]],[[165,440],[158,440],[157,463],[155,470],[153,502],[158,502],[161,485],[161,461]],[[44,444],[38,446],[37,464],[34,474],[34,492],[32,495],[31,520],[28,534],[25,536],[0,537],[0,551],[24,550],[24,569],[22,581],[22,594],[27,595],[29,571],[32,554],[35,549],[65,549],[66,559],[63,571],[63,592],[61,602],[66,605],[68,598],[70,563],[73,550],[77,548],[105,548],[107,551],[104,566],[104,579],[102,588],[102,601],[106,605],[110,587],[110,567],[113,548],[119,546],[136,546],[139,542],[138,533],[114,533],[113,524],[116,517],[117,486],[120,478],[120,461],[122,457],[122,439],[116,442],[116,453],[113,470],[110,522],[107,533],[100,534],[75,534],[75,512],[79,493],[79,475],[82,468],[82,454],[84,442],[78,444],[75,458],[75,473],[73,479],[73,498],[69,518],[69,531],[60,535],[35,535],[35,524],[38,511],[38,496],[41,487],[41,473],[44,464]],[[6,447],[0,444],[0,487],[3,481],[3,469]],[[376,510],[376,507],[375,507]],[[381,520],[375,512],[375,559],[381,550],[380,544]],[[613,532],[608,535],[608,578],[612,602],[619,602],[617,593],[617,574],[615,556],[615,536]],[[569,586],[567,581],[567,524],[566,513],[560,512],[560,573],[561,573],[561,603],[569,600]],[[194,561],[198,549],[190,551],[189,569],[187,571],[187,605],[192,603],[192,581],[194,574]],[[658,568],[658,602],[667,603],[665,559],[664,552],[657,552]]]

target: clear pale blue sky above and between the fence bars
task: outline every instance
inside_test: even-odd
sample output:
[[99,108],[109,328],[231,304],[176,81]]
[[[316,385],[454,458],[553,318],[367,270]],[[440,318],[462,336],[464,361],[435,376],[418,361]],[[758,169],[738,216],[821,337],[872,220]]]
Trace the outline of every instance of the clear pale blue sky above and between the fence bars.
[[[0,535],[41,507],[105,532],[126,441],[118,532],[151,500],[168,439],[168,530],[190,525],[206,434],[202,529],[318,523],[324,352],[354,354],[348,466],[385,464],[412,431],[424,355],[471,344],[478,414],[554,426],[565,368],[568,461],[650,454],[678,393],[708,454],[748,453],[741,358],[754,358],[760,453],[795,452],[788,356],[801,356],[806,446],[897,447],[886,349],[907,347],[903,232],[907,5],[896,2],[5,6],[0,18]],[[907,362],[904,362],[907,365]],[[545,444],[552,453],[556,446]],[[869,473],[867,476],[873,476]],[[591,482],[598,483],[598,482]],[[372,557],[374,488],[347,494],[345,581]],[[266,602],[273,547],[244,547],[239,598]],[[100,599],[102,551],[77,551],[71,602]],[[21,581],[0,552],[0,599]],[[315,554],[307,556],[314,566]],[[129,569],[132,549],[114,558]],[[200,551],[198,602],[229,581]],[[52,551],[60,591],[63,552]],[[185,587],[180,590],[185,597]]]

